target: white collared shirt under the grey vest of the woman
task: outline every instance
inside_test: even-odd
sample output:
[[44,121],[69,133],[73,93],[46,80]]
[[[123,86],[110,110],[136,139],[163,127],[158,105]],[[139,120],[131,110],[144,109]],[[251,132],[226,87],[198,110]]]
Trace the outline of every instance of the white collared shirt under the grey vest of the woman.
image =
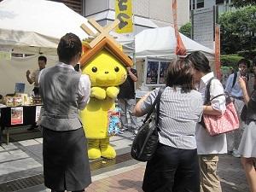
[[[56,64],[58,67],[67,67],[72,70],[74,70],[73,66],[67,65],[63,62],[58,62]],[[38,75],[38,82],[40,80],[41,73],[44,71],[41,70]],[[79,96],[81,97],[81,100],[79,100],[79,109],[84,109],[86,104],[89,102],[90,99],[90,78],[86,74],[81,74],[80,80],[79,80]]]

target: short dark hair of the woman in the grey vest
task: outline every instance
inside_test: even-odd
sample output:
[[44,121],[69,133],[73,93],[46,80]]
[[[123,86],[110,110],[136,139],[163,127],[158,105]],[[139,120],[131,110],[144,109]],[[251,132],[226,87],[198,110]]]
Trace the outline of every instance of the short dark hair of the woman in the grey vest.
[[59,61],[69,64],[73,57],[81,52],[82,43],[78,36],[70,32],[61,38],[57,48]]

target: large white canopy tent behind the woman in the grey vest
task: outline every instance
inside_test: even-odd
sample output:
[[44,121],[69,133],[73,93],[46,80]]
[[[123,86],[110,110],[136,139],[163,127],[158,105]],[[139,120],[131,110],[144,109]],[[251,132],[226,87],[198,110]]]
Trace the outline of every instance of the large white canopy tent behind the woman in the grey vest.
[[93,32],[87,19],[64,3],[46,0],[3,0],[0,3],[0,50],[32,54],[29,57],[3,60],[0,58],[0,94],[14,93],[15,83],[25,83],[26,93],[33,85],[26,81],[26,70],[38,68],[38,55],[46,55],[47,66],[57,61],[56,48],[60,38],[73,32],[80,39],[88,35],[80,26],[84,23]]

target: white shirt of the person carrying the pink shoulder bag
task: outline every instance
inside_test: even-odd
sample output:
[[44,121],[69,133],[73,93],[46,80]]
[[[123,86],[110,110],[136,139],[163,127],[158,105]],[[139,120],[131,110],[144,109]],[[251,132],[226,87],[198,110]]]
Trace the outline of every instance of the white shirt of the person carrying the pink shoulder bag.
[[[205,91],[207,84],[212,79],[213,73],[207,73],[201,78],[198,91],[201,96],[205,98]],[[210,86],[210,98],[218,96],[224,93],[224,88],[218,79],[212,79]],[[211,102],[212,108],[224,113],[225,107],[225,96],[218,96]],[[206,129],[200,125],[196,125],[195,138],[197,144],[197,154],[225,154],[227,153],[227,139],[226,134],[211,137]]]

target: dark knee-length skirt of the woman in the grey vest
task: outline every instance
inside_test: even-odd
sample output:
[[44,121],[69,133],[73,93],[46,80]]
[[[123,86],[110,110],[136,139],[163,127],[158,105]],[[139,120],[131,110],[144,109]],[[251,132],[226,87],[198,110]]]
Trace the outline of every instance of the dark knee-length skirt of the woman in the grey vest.
[[44,185],[49,189],[75,191],[91,183],[84,129],[43,129]]

